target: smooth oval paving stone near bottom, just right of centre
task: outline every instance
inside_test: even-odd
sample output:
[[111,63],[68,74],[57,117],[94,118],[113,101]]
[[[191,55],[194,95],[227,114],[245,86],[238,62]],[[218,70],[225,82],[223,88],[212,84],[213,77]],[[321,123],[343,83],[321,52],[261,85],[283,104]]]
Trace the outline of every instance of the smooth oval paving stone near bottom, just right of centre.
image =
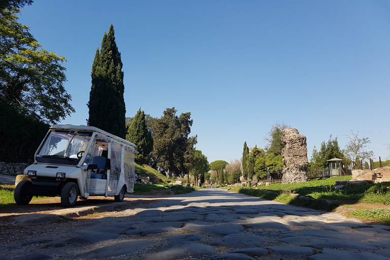
[[260,247],[266,240],[262,237],[249,234],[230,234],[210,242],[210,245],[230,248]]

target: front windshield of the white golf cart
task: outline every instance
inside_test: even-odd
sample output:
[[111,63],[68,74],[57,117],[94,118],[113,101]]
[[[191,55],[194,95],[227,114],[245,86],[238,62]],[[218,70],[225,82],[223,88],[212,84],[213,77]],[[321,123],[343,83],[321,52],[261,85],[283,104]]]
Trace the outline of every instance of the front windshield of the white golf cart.
[[92,132],[52,131],[39,150],[39,163],[77,165],[91,139]]

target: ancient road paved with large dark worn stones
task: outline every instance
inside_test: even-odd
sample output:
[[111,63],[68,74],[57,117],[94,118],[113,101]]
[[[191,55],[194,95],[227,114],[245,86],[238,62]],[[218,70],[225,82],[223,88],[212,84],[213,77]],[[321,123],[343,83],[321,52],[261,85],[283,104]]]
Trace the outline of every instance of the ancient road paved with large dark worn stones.
[[[132,204],[129,204],[132,205]],[[390,227],[205,188],[7,243],[0,259],[387,259]],[[16,220],[15,220],[16,221]],[[45,225],[46,226],[46,225]],[[37,226],[30,226],[34,231]],[[26,228],[24,228],[26,229]],[[48,231],[49,232],[49,231]],[[52,233],[50,233],[52,234]]]

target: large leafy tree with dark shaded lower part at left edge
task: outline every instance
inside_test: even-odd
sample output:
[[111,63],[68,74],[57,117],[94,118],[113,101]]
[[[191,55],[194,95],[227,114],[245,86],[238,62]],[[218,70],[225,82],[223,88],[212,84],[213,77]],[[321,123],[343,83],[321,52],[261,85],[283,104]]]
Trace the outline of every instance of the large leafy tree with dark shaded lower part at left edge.
[[17,22],[29,0],[0,1],[0,161],[32,159],[49,124],[75,112],[61,66],[66,58],[42,49]]

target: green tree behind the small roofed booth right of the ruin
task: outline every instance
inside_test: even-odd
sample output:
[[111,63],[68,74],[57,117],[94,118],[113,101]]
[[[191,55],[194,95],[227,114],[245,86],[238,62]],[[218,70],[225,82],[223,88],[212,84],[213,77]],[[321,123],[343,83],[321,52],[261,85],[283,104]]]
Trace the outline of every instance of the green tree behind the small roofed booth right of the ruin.
[[340,149],[337,137],[332,139],[332,135],[330,135],[327,143],[325,143],[325,141],[321,143],[321,148],[319,151],[317,151],[316,147],[314,146],[310,159],[310,168],[329,168],[328,160],[333,158],[343,159],[343,163],[346,163],[344,160],[344,151]]

